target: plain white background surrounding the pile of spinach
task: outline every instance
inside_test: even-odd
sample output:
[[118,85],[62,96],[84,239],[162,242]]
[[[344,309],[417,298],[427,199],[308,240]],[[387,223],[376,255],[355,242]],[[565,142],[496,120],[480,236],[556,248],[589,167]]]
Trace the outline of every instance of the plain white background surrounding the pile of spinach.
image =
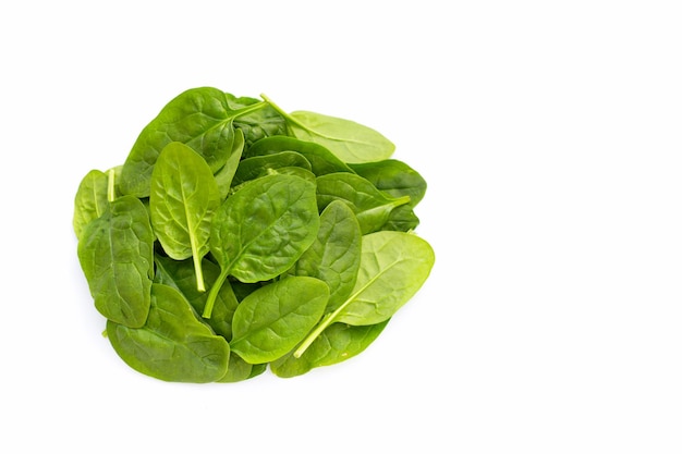
[[[682,452],[678,3],[2,3],[0,452]],[[437,265],[361,356],[187,385],[100,335],[77,185],[204,85],[428,181]]]

